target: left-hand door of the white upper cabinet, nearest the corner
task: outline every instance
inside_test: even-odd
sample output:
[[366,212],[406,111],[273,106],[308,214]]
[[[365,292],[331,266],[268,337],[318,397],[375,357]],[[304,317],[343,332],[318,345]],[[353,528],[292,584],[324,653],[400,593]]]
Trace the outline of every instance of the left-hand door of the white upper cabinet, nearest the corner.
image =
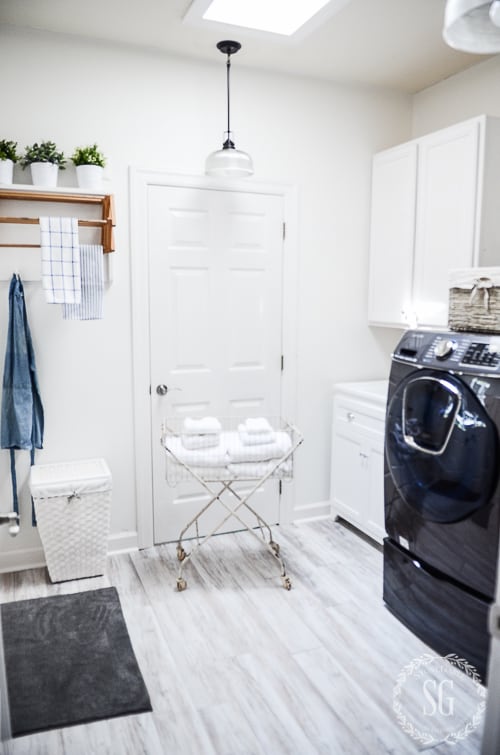
[[417,182],[415,142],[373,158],[368,319],[405,325],[411,318]]

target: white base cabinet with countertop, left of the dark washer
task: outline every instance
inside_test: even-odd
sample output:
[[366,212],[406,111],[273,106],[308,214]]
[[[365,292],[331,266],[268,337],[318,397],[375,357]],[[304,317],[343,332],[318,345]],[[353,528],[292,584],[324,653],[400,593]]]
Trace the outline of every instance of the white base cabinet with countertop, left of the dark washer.
[[381,543],[384,526],[384,427],[387,381],[334,386],[332,514]]

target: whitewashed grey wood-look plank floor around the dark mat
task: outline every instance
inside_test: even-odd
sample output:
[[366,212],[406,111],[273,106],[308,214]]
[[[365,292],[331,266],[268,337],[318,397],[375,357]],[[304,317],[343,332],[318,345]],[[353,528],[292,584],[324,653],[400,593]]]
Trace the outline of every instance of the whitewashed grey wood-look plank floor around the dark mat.
[[[382,555],[333,520],[274,532],[293,582],[249,533],[222,535],[175,589],[174,545],[108,560],[102,578],[0,576],[0,602],[115,585],[153,713],[4,743],[6,755],[406,755],[400,669],[428,651],[384,608]],[[0,745],[1,747],[1,745]],[[433,755],[479,753],[480,731]]]

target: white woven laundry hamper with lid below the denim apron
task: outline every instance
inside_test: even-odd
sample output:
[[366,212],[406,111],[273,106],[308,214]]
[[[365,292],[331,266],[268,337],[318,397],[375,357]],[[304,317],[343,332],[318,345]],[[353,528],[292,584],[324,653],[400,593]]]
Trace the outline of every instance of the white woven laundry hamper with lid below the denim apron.
[[30,490],[52,582],[104,574],[111,513],[105,460],[35,464]]

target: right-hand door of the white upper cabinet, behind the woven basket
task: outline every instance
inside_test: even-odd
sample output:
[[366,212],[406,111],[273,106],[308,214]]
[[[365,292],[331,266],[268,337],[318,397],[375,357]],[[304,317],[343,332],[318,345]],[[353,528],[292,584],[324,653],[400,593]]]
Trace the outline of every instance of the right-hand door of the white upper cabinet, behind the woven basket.
[[474,264],[479,121],[419,140],[413,301],[419,325],[446,326],[449,271]]

